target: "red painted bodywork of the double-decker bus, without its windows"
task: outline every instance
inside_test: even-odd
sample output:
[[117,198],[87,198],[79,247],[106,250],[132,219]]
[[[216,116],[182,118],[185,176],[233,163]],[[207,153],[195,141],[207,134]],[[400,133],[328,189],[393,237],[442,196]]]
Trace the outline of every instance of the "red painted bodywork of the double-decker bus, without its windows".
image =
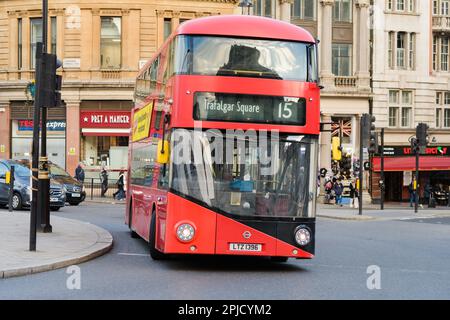
[[[164,65],[164,59],[167,59],[164,50],[178,35],[216,35],[306,43],[316,42],[304,29],[268,18],[236,15],[195,19],[180,25],[155,56],[143,67],[138,77],[152,65],[152,61],[157,57],[161,59],[160,65]],[[194,128],[201,122],[204,129],[278,130],[280,133],[314,136],[318,136],[320,132],[320,97],[317,83],[246,77],[173,75],[164,86],[161,85],[161,91],[164,94],[163,98],[149,96],[144,102],[137,103],[133,110],[134,115],[137,110],[150,101],[154,101],[155,106],[161,106],[161,108],[153,108],[149,137],[139,142],[131,142],[130,137],[130,164],[135,148],[151,143],[152,139],[162,136],[162,129],[157,130],[154,126],[158,110],[164,110],[164,114],[170,114],[170,123],[168,124],[170,128]],[[197,91],[304,97],[307,103],[306,124],[304,126],[293,126],[195,121],[192,116],[193,99],[194,93]],[[128,172],[131,173],[130,168]],[[317,175],[316,172],[310,174]],[[313,257],[314,245],[312,245],[312,249],[305,250],[286,239],[292,238],[292,230],[299,224],[308,224],[314,235],[315,218],[293,219],[295,220],[293,224],[289,224],[286,219],[276,221],[278,227],[273,223],[265,222],[264,219],[251,223],[245,219],[234,219],[186,199],[169,189],[158,188],[156,176],[157,173],[153,178],[155,181],[152,186],[131,184],[128,177],[125,221],[129,224],[131,230],[150,241],[151,217],[152,214],[155,214],[155,247],[158,251],[168,254],[245,254],[306,259]],[[177,227],[185,222],[193,225],[196,230],[194,239],[189,243],[179,241],[176,236]],[[280,233],[283,230],[289,230],[286,232],[289,235],[281,235]],[[250,238],[243,237],[244,233],[250,234]],[[258,243],[262,244],[262,250],[244,253],[230,251],[229,243]]]

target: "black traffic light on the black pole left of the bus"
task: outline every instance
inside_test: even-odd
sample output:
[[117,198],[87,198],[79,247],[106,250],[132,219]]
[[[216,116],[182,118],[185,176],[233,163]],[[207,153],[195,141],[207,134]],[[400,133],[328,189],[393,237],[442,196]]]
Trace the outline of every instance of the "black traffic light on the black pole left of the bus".
[[61,102],[62,77],[56,74],[56,70],[61,67],[61,62],[56,55],[43,53],[42,68],[40,72],[40,96],[39,106],[59,107]]

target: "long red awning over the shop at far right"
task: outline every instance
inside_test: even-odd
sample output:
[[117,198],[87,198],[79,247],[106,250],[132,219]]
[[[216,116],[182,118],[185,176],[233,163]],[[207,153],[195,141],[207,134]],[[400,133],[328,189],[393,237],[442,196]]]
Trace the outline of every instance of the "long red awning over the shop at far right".
[[[373,158],[373,170],[381,171],[381,158]],[[415,157],[384,158],[385,171],[414,171],[416,170]],[[445,171],[450,170],[450,157],[419,157],[419,170]]]

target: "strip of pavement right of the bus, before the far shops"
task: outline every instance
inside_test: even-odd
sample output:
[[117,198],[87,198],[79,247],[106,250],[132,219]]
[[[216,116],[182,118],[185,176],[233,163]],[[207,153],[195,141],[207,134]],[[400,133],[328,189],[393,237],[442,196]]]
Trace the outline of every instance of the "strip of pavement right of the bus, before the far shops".
[[436,217],[450,217],[450,208],[440,207],[436,209],[419,208],[417,213],[414,209],[399,206],[397,208],[388,207],[385,210],[380,210],[377,207],[363,207],[363,214],[358,214],[357,208],[350,208],[349,206],[337,207],[334,205],[317,205],[317,216],[322,218],[338,219],[338,220],[399,220],[399,219],[417,219],[417,218],[436,218]]

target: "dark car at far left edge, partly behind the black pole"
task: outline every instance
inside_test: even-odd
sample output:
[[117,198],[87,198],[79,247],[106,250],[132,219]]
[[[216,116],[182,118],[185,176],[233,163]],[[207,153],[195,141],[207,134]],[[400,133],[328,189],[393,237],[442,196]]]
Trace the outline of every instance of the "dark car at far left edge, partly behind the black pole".
[[[31,204],[31,170],[22,162],[15,160],[0,160],[0,206],[8,205],[9,184],[6,184],[6,172],[14,166],[14,194],[12,208],[19,210],[30,207]],[[57,211],[64,207],[66,195],[64,186],[50,180],[50,210]]]

